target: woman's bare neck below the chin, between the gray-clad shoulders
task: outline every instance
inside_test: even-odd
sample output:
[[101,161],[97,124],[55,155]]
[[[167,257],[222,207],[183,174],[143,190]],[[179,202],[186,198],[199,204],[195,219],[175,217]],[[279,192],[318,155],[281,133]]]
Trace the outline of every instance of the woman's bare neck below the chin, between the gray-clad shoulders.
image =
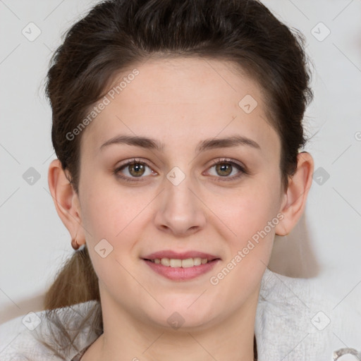
[[119,306],[114,308],[113,302],[103,301],[104,333],[81,361],[253,361],[257,357],[257,349],[254,350],[257,300],[255,293],[244,307],[222,322],[187,329],[154,326],[135,319]]

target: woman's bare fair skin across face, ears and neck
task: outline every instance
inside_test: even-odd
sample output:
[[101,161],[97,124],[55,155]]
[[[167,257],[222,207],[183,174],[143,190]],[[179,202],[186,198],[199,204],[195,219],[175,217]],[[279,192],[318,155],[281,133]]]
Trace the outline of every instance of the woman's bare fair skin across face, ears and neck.
[[[83,130],[79,194],[58,159],[49,167],[56,210],[71,237],[87,244],[99,278],[104,334],[82,361],[251,361],[259,287],[274,235],[288,234],[304,211],[312,157],[298,155],[298,169],[283,190],[281,142],[267,120],[260,88],[235,75],[231,63],[152,59],[136,68],[135,80]],[[250,114],[238,106],[247,94],[258,103]],[[99,150],[120,134],[164,142],[164,152],[131,145]],[[200,141],[229,135],[248,137],[260,149],[240,145],[196,154]],[[138,170],[142,178],[134,169],[130,173],[131,166],[119,173],[133,174],[133,183],[117,178],[113,171],[133,158],[147,164],[144,173]],[[250,173],[233,166],[222,176],[212,164],[222,158]],[[166,178],[174,166],[185,175],[178,185]],[[210,277],[277,214],[283,219],[212,285]],[[102,258],[94,247],[104,238],[113,251]],[[198,250],[221,261],[197,279],[171,281],[141,259],[159,250]],[[167,322],[173,312],[184,319],[179,329]]]

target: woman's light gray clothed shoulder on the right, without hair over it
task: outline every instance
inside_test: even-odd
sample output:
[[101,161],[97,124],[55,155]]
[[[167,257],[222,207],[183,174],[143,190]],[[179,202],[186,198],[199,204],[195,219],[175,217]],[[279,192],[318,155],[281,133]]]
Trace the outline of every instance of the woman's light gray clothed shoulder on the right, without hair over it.
[[255,320],[259,361],[331,361],[345,345],[360,351],[361,314],[339,301],[312,279],[266,269]]

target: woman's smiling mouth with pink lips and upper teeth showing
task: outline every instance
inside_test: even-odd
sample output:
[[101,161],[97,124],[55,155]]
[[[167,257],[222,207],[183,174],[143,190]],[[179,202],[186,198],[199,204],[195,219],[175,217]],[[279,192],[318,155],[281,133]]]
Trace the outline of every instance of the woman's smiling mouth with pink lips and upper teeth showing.
[[157,274],[173,281],[195,279],[209,272],[221,258],[204,252],[161,251],[142,258]]

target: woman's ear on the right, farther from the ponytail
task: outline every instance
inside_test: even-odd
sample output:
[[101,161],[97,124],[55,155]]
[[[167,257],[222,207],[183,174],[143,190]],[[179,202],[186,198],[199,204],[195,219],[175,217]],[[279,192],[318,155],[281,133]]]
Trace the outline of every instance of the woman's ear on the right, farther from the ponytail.
[[283,219],[277,224],[277,235],[288,235],[297,224],[305,209],[308,192],[312,185],[314,161],[310,153],[298,154],[297,170],[288,178],[288,188],[285,191],[280,212]]

